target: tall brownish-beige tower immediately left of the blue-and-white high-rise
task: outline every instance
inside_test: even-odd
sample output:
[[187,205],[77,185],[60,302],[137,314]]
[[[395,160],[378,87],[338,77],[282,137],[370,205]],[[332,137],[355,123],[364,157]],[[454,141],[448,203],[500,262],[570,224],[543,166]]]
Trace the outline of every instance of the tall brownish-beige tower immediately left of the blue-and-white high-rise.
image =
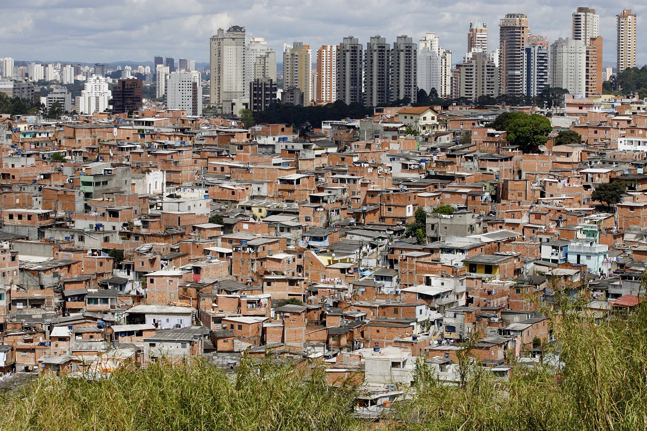
[[525,14],[507,14],[499,23],[499,94],[523,92],[523,48],[529,32]]

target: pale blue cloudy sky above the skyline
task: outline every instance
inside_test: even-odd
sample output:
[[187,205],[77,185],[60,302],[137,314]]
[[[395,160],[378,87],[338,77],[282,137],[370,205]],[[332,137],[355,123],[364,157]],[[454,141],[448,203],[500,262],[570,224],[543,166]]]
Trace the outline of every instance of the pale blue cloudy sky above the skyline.
[[[87,7],[87,5],[95,6]],[[441,45],[466,50],[470,21],[488,24],[490,49],[498,45],[498,21],[507,13],[529,17],[532,34],[551,41],[571,36],[571,13],[595,8],[604,38],[604,60],[615,63],[615,15],[638,14],[638,34],[647,25],[641,1],[573,0],[0,0],[0,58],[38,61],[152,61],[153,56],[209,60],[209,37],[217,28],[245,26],[247,35],[265,37],[281,51],[283,43],[303,41],[314,49],[353,35],[366,44],[380,34],[388,41],[406,34],[414,41],[436,32]],[[644,19],[644,21],[643,21]],[[646,23],[646,24],[643,24]],[[644,38],[642,38],[644,40]],[[647,43],[638,40],[638,63],[647,61]]]

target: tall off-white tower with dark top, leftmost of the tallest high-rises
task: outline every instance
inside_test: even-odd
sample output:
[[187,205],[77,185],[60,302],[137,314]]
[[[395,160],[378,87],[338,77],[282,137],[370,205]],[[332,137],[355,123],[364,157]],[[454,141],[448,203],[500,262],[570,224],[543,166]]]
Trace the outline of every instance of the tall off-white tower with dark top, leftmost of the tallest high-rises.
[[233,101],[245,96],[245,27],[237,25],[223,30],[210,39],[212,105],[230,114]]

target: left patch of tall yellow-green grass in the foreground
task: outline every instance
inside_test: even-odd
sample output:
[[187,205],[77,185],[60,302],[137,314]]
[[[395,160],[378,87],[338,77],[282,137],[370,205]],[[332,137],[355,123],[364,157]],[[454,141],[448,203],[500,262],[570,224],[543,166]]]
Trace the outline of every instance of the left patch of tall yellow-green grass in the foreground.
[[121,371],[111,379],[43,377],[0,405],[0,429],[38,431],[354,430],[354,388],[330,388],[314,368],[244,363]]

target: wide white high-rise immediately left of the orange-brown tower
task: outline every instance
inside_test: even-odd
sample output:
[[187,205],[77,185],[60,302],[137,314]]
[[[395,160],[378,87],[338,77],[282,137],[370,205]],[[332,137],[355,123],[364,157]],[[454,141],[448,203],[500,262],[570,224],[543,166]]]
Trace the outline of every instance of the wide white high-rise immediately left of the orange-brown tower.
[[554,41],[550,50],[551,87],[586,94],[586,45],[567,37]]

